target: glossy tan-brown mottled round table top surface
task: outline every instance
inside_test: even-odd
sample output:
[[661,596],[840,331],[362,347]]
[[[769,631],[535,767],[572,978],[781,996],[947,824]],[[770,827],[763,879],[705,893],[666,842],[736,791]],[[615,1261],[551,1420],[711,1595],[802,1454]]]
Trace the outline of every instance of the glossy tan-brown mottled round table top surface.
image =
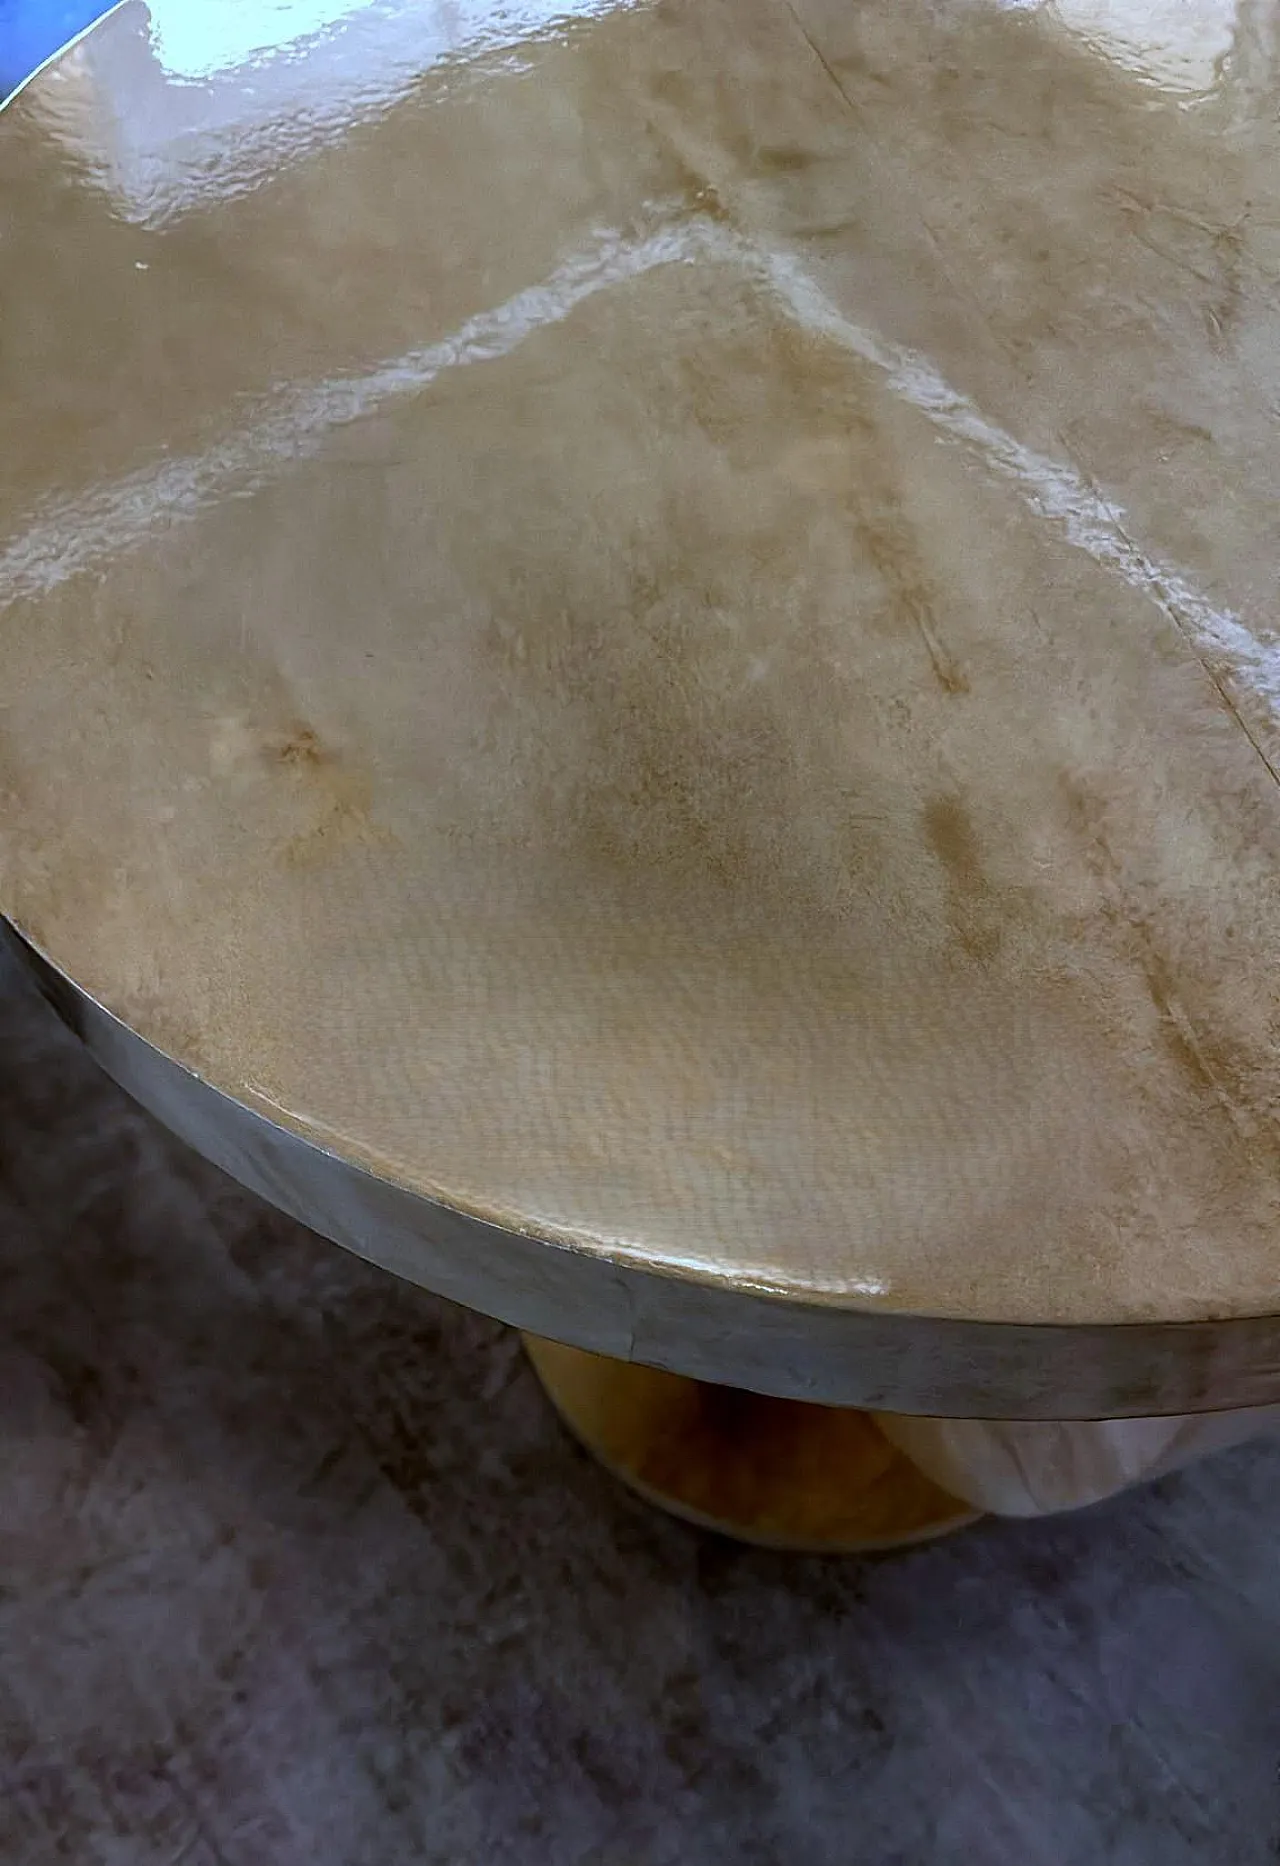
[[116,13],[0,118],[0,909],[575,1261],[1280,1308],[1276,65],[1148,11]]

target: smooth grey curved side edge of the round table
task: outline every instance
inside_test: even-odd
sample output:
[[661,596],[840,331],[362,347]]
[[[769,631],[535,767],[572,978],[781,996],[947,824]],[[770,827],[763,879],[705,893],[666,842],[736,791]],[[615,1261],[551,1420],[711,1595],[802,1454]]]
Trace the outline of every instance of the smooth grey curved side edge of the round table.
[[278,1127],[140,1037],[0,918],[9,954],[136,1103],[310,1230],[530,1334],[724,1386],[944,1418],[1133,1418],[1280,1400],[1280,1314],[1009,1323],[799,1302],[506,1232]]

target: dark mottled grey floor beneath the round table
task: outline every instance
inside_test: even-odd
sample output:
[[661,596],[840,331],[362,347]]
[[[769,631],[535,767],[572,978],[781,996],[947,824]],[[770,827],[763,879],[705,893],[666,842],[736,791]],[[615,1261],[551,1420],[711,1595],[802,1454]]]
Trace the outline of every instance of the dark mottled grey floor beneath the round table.
[[1280,1446],[884,1562],[651,1515],[0,983],[6,1866],[1274,1866],[1278,1556]]

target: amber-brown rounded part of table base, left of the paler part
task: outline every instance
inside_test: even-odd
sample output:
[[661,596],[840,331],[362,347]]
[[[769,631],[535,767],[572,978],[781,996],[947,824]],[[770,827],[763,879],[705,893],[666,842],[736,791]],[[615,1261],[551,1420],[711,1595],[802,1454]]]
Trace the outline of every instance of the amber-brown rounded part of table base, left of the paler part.
[[866,1413],[711,1386],[532,1334],[524,1347],[588,1452],[702,1528],[834,1554],[905,1547],[978,1515],[918,1472]]

